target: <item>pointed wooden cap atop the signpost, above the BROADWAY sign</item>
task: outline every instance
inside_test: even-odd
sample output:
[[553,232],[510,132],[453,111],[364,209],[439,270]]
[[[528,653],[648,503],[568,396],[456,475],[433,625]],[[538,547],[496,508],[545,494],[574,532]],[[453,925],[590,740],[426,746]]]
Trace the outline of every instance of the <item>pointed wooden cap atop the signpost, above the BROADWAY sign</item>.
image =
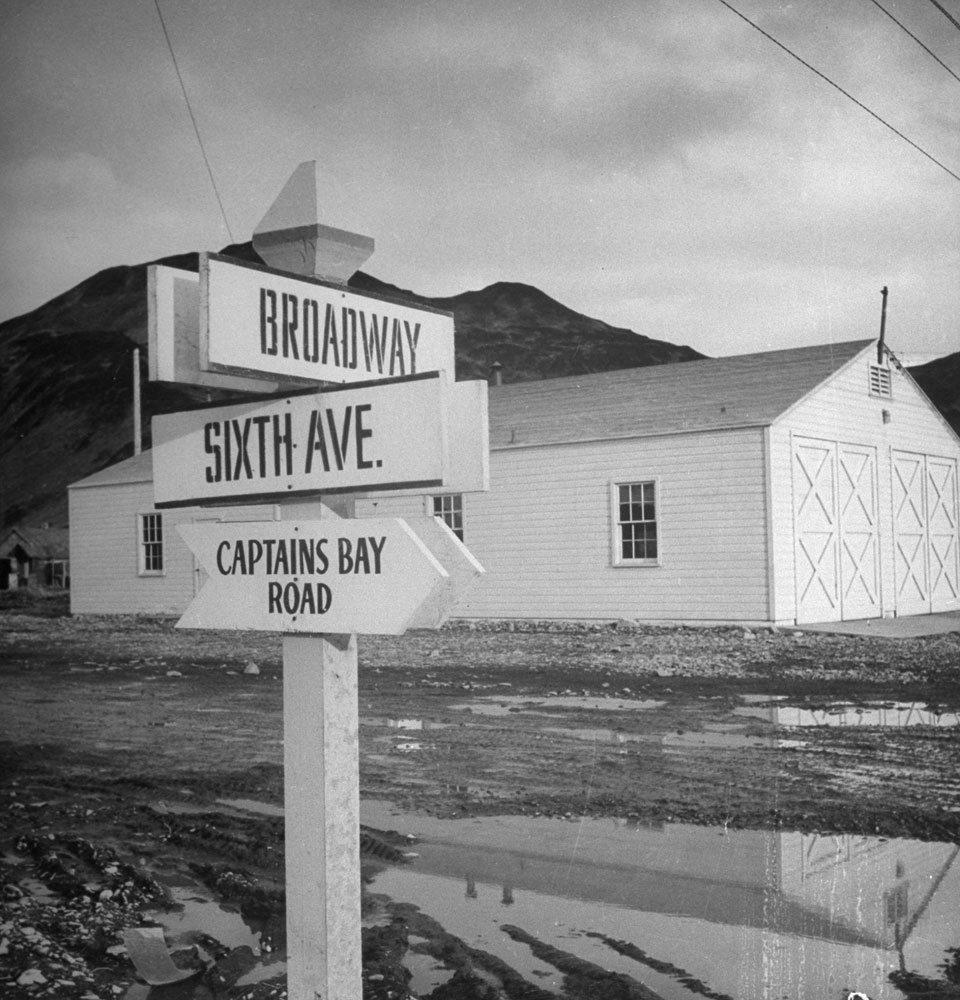
[[373,253],[370,236],[319,221],[317,161],[305,160],[253,231],[253,248],[269,267],[346,284]]

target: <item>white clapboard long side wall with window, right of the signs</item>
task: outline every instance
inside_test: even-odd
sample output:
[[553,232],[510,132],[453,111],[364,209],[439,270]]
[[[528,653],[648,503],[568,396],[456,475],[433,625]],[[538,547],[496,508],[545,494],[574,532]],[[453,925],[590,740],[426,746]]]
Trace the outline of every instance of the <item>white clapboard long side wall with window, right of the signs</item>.
[[[768,617],[760,428],[491,451],[490,491],[464,495],[464,541],[486,569],[464,617]],[[659,566],[614,567],[611,481],[659,482]],[[359,516],[426,509],[360,501]]]

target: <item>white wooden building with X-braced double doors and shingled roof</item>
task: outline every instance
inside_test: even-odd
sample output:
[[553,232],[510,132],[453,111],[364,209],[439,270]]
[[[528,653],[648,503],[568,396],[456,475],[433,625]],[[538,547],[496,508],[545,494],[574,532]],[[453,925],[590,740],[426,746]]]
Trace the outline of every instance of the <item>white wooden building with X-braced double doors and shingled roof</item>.
[[[487,571],[464,617],[960,609],[960,438],[876,341],[491,386],[490,449],[488,493],[357,502],[462,534]],[[70,516],[74,611],[172,612],[197,580],[173,524],[274,509],[156,511],[147,454],[73,484]]]

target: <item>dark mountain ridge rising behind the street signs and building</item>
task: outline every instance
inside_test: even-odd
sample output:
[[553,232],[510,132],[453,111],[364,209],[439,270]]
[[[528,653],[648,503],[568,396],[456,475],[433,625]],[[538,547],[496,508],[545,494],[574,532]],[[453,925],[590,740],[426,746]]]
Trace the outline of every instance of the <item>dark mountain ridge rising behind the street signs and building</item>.
[[[223,253],[262,263],[250,243]],[[157,263],[196,271],[198,255]],[[530,285],[497,282],[427,298],[357,272],[357,291],[452,312],[458,378],[531,381],[702,357],[582,316]],[[132,349],[147,341],[147,264],[107,268],[33,312],[0,324],[0,529],[67,525],[69,483],[133,452]],[[150,417],[222,394],[147,381],[140,353],[143,429]]]

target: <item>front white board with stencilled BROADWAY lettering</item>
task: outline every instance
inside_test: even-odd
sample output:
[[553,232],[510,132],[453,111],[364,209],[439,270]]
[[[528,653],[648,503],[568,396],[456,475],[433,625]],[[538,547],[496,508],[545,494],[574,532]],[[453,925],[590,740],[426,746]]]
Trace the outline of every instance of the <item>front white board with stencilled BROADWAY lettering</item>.
[[453,376],[453,316],[218,254],[200,255],[200,367],[367,382]]

